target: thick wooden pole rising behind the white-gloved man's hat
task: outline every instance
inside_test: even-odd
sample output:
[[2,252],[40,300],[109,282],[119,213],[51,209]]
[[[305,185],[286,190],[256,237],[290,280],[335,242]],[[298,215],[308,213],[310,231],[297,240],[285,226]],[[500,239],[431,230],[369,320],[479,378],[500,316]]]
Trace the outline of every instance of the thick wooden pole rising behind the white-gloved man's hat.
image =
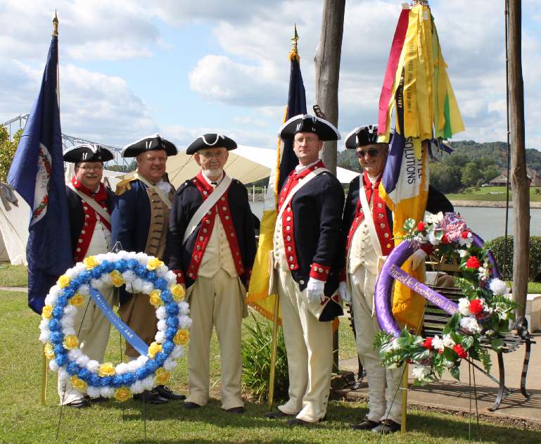
[[[338,127],[338,75],[342,34],[344,30],[345,0],[324,0],[322,32],[316,56],[316,103],[335,127]],[[336,141],[325,142],[322,160],[336,174]]]

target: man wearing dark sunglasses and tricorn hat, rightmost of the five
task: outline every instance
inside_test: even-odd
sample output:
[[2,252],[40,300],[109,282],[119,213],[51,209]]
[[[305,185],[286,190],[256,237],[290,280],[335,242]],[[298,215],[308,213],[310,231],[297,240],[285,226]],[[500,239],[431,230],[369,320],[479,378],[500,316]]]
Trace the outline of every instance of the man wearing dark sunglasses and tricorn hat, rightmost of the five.
[[[400,429],[402,418],[402,397],[395,395],[402,369],[383,367],[378,350],[372,346],[374,336],[380,331],[374,311],[374,288],[380,258],[374,245],[378,243],[381,246],[383,256],[395,246],[393,214],[378,192],[389,146],[378,143],[377,125],[367,125],[348,134],[345,148],[355,150],[363,172],[350,183],[345,200],[343,231],[348,240],[343,281],[339,288],[340,297],[352,307],[357,353],[367,371],[369,386],[369,412],[359,424],[353,424],[352,429],[393,433]],[[371,220],[365,218],[364,208],[369,211]],[[445,213],[453,211],[453,207],[443,194],[429,187],[426,210]],[[371,222],[376,239],[371,235]],[[426,253],[417,250],[411,258],[412,267],[419,267],[424,258]]]

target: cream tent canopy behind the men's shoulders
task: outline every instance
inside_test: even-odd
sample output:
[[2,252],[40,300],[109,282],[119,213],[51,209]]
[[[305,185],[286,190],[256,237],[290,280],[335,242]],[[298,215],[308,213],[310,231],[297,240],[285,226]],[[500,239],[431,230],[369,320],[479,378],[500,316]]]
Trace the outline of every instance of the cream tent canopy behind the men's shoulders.
[[[269,177],[274,165],[276,165],[276,150],[239,145],[234,151],[229,152],[224,168],[229,176],[240,180],[243,184],[250,184]],[[184,151],[167,159],[167,174],[175,188],[197,175],[199,169],[193,156]],[[349,184],[359,174],[340,167],[336,168],[336,172],[338,180],[343,184]]]

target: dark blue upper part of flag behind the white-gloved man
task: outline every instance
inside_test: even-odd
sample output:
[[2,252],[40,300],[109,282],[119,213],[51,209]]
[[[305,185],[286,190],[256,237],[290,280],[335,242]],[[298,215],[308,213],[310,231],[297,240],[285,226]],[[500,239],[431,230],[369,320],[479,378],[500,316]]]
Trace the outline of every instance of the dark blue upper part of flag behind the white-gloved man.
[[[303,75],[300,73],[299,59],[296,54],[291,56],[291,70],[289,74],[288,108],[284,122],[295,115],[306,114],[306,93]],[[278,189],[280,190],[290,172],[298,165],[299,160],[293,151],[293,139],[282,141],[282,158],[280,160],[280,175]]]

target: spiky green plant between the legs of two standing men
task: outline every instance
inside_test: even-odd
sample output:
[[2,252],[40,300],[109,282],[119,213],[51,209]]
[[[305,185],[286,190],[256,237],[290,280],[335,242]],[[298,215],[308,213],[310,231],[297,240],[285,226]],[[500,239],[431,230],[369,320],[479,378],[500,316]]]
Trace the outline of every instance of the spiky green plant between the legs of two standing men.
[[[242,343],[243,386],[257,398],[266,400],[269,393],[269,376],[272,351],[272,322],[254,319],[246,325],[250,336]],[[274,398],[285,398],[288,393],[288,360],[282,329],[278,330],[276,364],[274,366]]]

